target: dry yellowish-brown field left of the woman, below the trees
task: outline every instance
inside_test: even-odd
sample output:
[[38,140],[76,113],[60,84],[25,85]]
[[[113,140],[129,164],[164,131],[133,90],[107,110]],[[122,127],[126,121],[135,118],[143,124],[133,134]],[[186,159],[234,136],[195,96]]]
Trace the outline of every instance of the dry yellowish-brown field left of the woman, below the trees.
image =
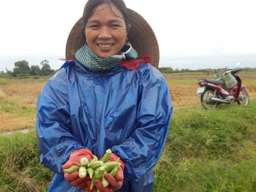
[[10,79],[7,84],[0,84],[0,132],[35,125],[36,99],[44,84],[37,79]]

